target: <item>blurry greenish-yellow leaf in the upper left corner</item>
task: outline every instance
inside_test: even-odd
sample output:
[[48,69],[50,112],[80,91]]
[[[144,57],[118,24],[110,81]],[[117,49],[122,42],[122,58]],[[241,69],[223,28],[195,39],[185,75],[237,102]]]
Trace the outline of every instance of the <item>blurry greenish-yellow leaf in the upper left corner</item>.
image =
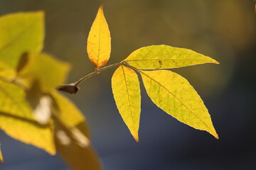
[[23,52],[41,52],[44,13],[13,13],[0,17],[0,60],[16,68]]

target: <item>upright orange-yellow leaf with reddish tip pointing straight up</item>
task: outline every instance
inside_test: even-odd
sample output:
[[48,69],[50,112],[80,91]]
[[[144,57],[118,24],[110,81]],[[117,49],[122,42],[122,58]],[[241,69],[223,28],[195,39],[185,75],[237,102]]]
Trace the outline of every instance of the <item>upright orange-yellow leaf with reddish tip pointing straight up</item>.
[[100,68],[110,59],[110,51],[110,30],[103,13],[103,6],[100,6],[88,35],[87,53],[95,67]]

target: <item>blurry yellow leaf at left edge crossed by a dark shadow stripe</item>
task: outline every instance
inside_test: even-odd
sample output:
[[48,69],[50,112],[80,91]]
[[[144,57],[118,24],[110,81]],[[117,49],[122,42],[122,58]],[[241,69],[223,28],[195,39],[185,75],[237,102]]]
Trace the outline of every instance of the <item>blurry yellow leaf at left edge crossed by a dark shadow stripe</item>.
[[52,121],[37,123],[25,91],[4,81],[0,81],[0,128],[16,140],[55,154]]

